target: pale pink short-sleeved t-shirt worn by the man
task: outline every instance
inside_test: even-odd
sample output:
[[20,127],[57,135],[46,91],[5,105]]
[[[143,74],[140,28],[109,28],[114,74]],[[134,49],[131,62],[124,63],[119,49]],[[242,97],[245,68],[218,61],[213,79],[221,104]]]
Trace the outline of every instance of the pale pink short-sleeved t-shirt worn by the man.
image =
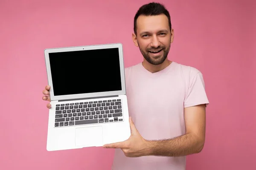
[[[208,104],[204,80],[196,68],[172,62],[151,73],[142,63],[125,68],[129,115],[146,140],[185,134],[184,108]],[[128,158],[115,149],[112,170],[185,170],[186,156]]]

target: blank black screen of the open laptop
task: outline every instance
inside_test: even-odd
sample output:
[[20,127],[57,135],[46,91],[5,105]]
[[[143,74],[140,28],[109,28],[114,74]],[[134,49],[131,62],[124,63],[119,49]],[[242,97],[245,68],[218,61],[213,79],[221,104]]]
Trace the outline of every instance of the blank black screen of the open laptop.
[[54,95],[122,90],[118,48],[49,53]]

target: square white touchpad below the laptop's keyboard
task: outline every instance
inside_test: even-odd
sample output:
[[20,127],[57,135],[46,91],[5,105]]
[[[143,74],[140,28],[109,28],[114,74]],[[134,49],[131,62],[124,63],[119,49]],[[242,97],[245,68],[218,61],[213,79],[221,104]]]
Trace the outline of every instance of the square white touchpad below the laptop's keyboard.
[[102,126],[76,128],[76,146],[102,146]]

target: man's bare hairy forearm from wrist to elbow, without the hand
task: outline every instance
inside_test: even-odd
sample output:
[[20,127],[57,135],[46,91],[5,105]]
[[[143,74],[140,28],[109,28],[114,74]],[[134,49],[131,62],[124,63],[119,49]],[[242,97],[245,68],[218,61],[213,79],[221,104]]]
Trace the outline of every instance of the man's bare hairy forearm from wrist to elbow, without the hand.
[[186,156],[199,153],[203,146],[203,139],[192,134],[185,134],[174,139],[147,141],[145,154],[147,156]]

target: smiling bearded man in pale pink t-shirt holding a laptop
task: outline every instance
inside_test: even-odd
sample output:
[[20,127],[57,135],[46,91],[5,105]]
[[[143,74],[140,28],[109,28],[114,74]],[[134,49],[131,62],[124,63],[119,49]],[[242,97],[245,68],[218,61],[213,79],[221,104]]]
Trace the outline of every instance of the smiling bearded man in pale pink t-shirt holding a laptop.
[[116,148],[113,170],[185,170],[186,155],[204,147],[209,102],[203,76],[167,59],[174,30],[163,5],[140,7],[132,38],[144,60],[125,68],[131,136],[103,147]]

